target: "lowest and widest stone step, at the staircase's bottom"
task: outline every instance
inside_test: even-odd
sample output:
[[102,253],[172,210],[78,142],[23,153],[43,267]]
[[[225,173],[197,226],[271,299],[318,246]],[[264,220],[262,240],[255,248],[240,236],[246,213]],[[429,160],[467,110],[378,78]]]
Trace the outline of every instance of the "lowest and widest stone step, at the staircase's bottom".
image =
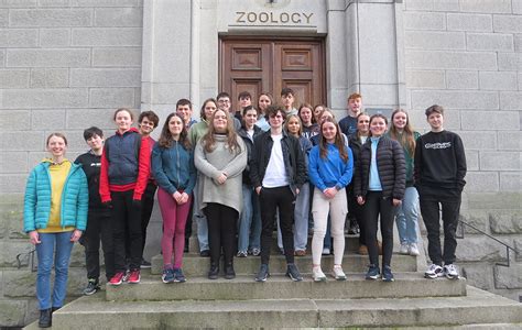
[[[100,293],[81,297],[56,311],[53,316],[53,329],[180,327],[447,329],[459,326],[472,329],[475,324],[491,329],[486,324],[501,323],[516,327],[522,323],[521,304],[469,286],[467,292],[467,296],[438,298],[209,301],[108,301],[104,293]],[[35,327],[36,322],[26,329],[36,329]]]

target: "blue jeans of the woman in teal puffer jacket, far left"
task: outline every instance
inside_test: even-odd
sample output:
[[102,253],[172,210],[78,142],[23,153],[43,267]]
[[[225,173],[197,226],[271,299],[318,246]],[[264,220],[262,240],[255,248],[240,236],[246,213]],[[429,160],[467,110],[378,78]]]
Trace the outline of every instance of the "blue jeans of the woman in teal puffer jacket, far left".
[[[67,293],[67,273],[69,267],[73,232],[40,233],[40,244],[36,244],[39,272],[36,276],[36,298],[40,309],[62,307]],[[56,246],[56,249],[55,249]],[[51,270],[54,256],[54,288],[51,297]]]

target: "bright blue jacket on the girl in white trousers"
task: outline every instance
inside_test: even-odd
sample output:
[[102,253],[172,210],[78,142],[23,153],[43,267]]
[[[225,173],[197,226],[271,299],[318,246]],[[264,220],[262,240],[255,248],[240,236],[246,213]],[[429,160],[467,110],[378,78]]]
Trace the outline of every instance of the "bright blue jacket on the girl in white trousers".
[[337,146],[327,144],[326,158],[320,157],[319,145],[309,152],[308,175],[309,180],[320,191],[326,188],[336,187],[340,190],[348,186],[354,175],[354,155],[349,146],[345,146],[348,153],[348,161],[342,162]]

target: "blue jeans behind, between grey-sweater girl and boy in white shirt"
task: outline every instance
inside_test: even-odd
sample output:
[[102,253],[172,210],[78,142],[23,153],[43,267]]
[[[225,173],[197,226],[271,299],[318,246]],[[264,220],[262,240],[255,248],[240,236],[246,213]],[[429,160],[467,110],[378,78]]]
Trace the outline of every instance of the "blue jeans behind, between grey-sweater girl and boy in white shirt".
[[238,251],[259,249],[261,237],[261,212],[258,194],[250,185],[243,185],[243,210],[238,222]]

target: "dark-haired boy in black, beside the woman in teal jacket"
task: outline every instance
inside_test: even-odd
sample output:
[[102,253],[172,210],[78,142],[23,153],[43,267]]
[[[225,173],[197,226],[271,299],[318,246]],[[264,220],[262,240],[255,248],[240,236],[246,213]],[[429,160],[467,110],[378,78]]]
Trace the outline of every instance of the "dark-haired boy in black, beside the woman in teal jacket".
[[88,152],[79,155],[75,163],[80,164],[89,185],[89,212],[87,229],[81,235],[80,243],[85,248],[87,267],[87,286],[84,295],[90,296],[100,289],[100,239],[105,258],[105,274],[107,282],[115,275],[115,251],[112,248],[112,231],[110,209],[101,204],[99,194],[101,153],[104,152],[104,132],[98,128],[84,131],[84,139],[90,147]]

